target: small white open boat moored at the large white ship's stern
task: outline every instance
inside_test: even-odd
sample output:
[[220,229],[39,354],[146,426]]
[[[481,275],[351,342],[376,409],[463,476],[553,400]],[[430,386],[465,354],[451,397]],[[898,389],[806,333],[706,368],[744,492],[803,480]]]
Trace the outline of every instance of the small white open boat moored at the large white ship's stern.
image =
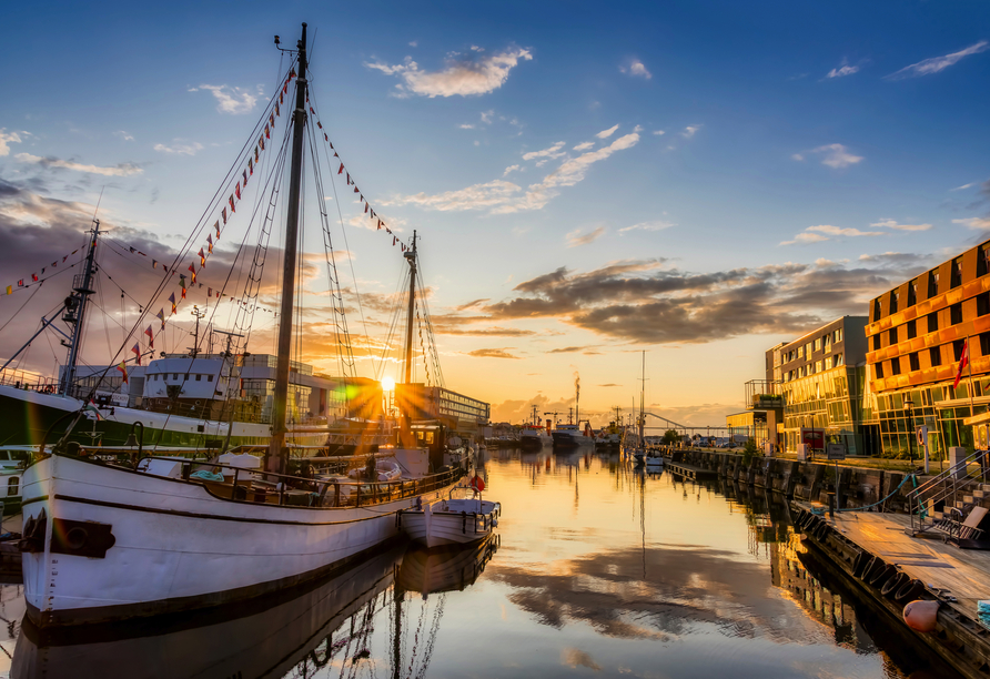
[[[458,489],[473,497],[455,498],[454,491]],[[451,489],[447,499],[403,509],[398,513],[398,525],[410,538],[430,548],[466,545],[492,535],[501,514],[501,504],[483,500],[474,488],[457,486]]]

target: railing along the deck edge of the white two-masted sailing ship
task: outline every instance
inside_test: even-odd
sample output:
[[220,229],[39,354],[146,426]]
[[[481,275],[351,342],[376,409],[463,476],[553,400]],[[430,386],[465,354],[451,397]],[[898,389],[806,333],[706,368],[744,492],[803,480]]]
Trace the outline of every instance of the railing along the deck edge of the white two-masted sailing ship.
[[[216,463],[174,459],[155,455],[142,457],[138,460],[135,468],[139,468],[144,459],[165,459],[180,464],[182,466],[181,477],[183,480],[202,484],[212,495],[222,499],[310,508],[367,507],[398,499],[415,498],[426,493],[446,488],[466,475],[463,467],[453,467],[421,478],[400,478],[391,482],[343,482],[340,479],[293,476],[262,469],[254,470]],[[199,469],[193,469],[193,467]],[[233,470],[233,478],[228,484],[226,479],[211,482],[210,479],[192,476],[195,470],[201,469],[209,472],[231,469]],[[249,484],[239,485],[238,482],[244,478],[249,479]],[[230,488],[230,497],[218,495],[216,491],[221,488]],[[277,500],[272,501],[275,496],[277,496]]]

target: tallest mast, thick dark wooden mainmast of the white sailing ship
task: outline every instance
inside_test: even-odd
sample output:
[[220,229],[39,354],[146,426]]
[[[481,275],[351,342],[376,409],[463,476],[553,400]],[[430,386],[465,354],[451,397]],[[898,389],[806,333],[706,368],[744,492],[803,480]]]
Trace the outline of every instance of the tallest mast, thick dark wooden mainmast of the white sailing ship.
[[295,265],[299,245],[300,190],[303,173],[303,134],[306,126],[306,24],[297,44],[299,77],[295,79],[295,110],[292,112],[292,165],[289,176],[289,213],[285,219],[285,256],[282,262],[282,305],[279,322],[279,363],[275,366],[275,392],[272,395],[272,440],[265,468],[285,472],[289,448],[285,448],[285,412],[289,401],[289,356],[292,351],[292,307],[295,301]]

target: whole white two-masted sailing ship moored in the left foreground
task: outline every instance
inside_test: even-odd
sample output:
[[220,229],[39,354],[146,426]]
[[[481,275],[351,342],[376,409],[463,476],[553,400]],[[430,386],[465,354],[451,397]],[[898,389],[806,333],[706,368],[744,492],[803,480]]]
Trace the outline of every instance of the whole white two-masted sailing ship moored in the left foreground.
[[[51,447],[43,439],[23,473],[24,523],[19,546],[27,615],[39,628],[188,615],[313,581],[384,549],[400,538],[398,510],[412,508],[416,501],[447,498],[464,476],[463,467],[434,464],[425,448],[414,445],[407,414],[391,453],[404,468],[414,470],[410,475],[378,480],[376,465],[371,477],[360,479],[291,473],[286,415],[303,150],[306,143],[322,144],[329,138],[307,114],[315,102],[307,100],[305,23],[296,48],[287,51],[293,64],[259,123],[259,129],[264,128],[263,146],[280,98],[294,84],[294,97],[285,99],[286,108],[292,105],[282,140],[285,162],[272,163],[269,180],[255,182],[269,192],[260,201],[267,203],[266,214],[285,216],[272,430],[263,462],[253,469],[219,460],[198,464],[182,456],[153,456],[144,462],[148,456],[140,428],[130,458],[107,456],[98,446],[71,439],[85,406],[68,416],[72,422],[67,432]],[[248,166],[260,170],[250,162],[257,151],[252,154],[249,144],[243,153],[238,162],[245,163],[245,175]],[[306,164],[320,171],[316,162]],[[283,182],[286,168],[289,178]],[[314,180],[321,181],[319,174]],[[229,181],[233,185],[234,180]],[[280,200],[285,183],[287,196]],[[323,196],[323,191],[319,195]],[[220,204],[224,204],[222,197],[211,210]],[[234,204],[233,194],[230,204]],[[212,221],[211,211],[205,214],[204,219]],[[225,220],[225,204],[223,215]],[[209,225],[209,221],[204,223]],[[271,233],[271,224],[265,224]],[[324,236],[331,249],[329,233]],[[405,344],[408,383],[412,324],[418,314],[415,233],[412,246],[403,250],[411,278]],[[186,255],[191,252],[186,250]],[[260,273],[254,273],[260,281]],[[138,334],[142,326],[139,320]],[[53,436],[59,434],[58,427],[50,429]]]

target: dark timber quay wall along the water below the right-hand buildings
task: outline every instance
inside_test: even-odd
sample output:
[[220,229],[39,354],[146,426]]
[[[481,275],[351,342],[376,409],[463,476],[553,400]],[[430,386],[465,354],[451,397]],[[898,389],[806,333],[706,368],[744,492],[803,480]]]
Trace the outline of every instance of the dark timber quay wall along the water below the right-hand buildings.
[[[827,462],[754,456],[747,463],[736,453],[678,448],[666,448],[664,455],[674,463],[714,472],[721,478],[781,493],[788,498],[827,505],[829,494],[838,488],[836,506],[842,508],[867,507],[887,498],[878,510],[906,511],[906,496],[913,488],[913,482],[901,486],[903,472],[888,469],[842,466],[838,468],[837,479],[835,464]],[[917,483],[925,480],[919,477]]]

